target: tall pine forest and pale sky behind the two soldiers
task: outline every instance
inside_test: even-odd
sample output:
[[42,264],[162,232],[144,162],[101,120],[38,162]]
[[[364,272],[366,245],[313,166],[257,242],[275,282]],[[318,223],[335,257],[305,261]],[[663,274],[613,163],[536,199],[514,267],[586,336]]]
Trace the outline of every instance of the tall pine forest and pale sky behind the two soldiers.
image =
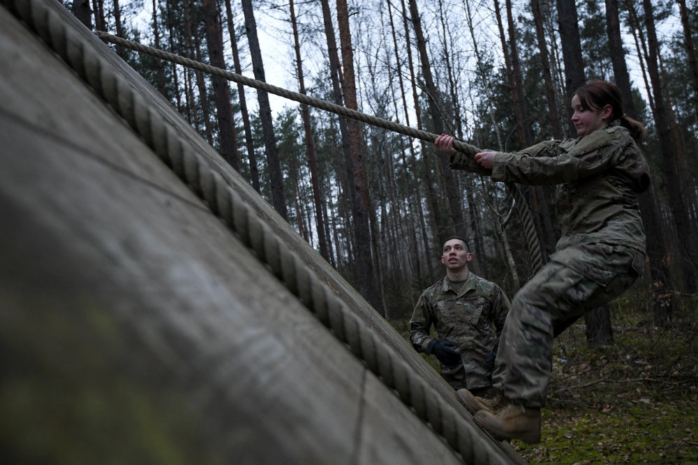
[[[553,398],[608,412],[607,397],[594,400],[589,386],[630,406],[647,403],[641,388],[649,386],[655,395],[680,397],[669,404],[683,412],[681,420],[669,414],[673,426],[655,422],[665,432],[697,429],[698,8],[691,1],[64,4],[92,29],[498,151],[576,137],[574,89],[594,79],[615,82],[625,112],[648,129],[643,148],[653,184],[640,199],[646,272],[631,291],[560,338]],[[114,49],[403,335],[419,294],[443,275],[440,245],[447,236],[466,237],[473,272],[510,297],[534,272],[531,236],[510,191],[452,171],[432,144]],[[545,260],[560,234],[555,188],[519,189]],[[628,381],[623,388],[621,378]],[[650,403],[655,409],[664,401]],[[681,445],[675,438],[662,444],[676,457],[683,445],[696,445],[692,434]],[[542,447],[524,453],[560,462]],[[695,452],[681,453],[681,460],[698,462]],[[632,462],[628,457],[607,463]]]

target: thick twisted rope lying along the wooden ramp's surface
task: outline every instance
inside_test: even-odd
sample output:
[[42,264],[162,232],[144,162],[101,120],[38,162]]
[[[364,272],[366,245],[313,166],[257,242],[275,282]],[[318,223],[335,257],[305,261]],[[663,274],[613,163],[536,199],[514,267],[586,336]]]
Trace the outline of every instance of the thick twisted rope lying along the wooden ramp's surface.
[[191,144],[179,137],[172,126],[151,109],[126,79],[114,73],[93,47],[61,22],[45,0],[0,1],[121,115],[154,153],[258,255],[260,261],[267,264],[274,275],[339,340],[346,343],[357,358],[366,363],[371,372],[395,390],[404,404],[459,452],[466,463],[505,463],[502,452],[489,441],[480,440],[479,429],[465,420],[465,409],[459,411],[435,394],[429,383],[351,312],[329,285],[317,279],[304,260],[288,249],[253,208],[196,154]]

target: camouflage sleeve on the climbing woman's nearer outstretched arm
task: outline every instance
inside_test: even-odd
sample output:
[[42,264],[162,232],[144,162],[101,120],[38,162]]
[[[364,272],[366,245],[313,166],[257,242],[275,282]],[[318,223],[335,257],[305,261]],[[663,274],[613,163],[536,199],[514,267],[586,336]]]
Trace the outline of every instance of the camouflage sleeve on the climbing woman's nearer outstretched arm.
[[577,181],[618,163],[618,144],[608,130],[596,130],[570,141],[547,141],[517,153],[498,152],[492,167],[495,181],[552,185]]

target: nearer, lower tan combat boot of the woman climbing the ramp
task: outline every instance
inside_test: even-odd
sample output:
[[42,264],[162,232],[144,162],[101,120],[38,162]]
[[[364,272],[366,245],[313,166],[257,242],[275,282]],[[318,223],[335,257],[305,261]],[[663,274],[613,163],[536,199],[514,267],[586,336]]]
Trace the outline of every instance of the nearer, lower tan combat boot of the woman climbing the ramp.
[[500,441],[520,439],[529,444],[540,443],[540,409],[526,409],[521,405],[507,404],[496,415],[481,410],[474,419],[477,425]]

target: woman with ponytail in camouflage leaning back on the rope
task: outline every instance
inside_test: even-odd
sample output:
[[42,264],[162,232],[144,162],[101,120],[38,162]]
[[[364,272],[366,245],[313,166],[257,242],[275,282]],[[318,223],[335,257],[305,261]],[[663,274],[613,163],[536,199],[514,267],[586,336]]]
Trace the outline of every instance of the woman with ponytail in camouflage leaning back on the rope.
[[[576,139],[541,142],[518,153],[481,152],[475,161],[495,181],[558,184],[556,212],[562,236],[550,261],[514,296],[500,339],[495,399],[457,391],[475,422],[498,439],[540,442],[540,409],[551,374],[558,330],[627,290],[644,268],[645,233],[637,197],[649,187],[637,140],[641,123],[623,112],[621,92],[597,81],[572,97]],[[457,153],[453,137],[436,148],[452,155],[453,169],[472,158]]]

